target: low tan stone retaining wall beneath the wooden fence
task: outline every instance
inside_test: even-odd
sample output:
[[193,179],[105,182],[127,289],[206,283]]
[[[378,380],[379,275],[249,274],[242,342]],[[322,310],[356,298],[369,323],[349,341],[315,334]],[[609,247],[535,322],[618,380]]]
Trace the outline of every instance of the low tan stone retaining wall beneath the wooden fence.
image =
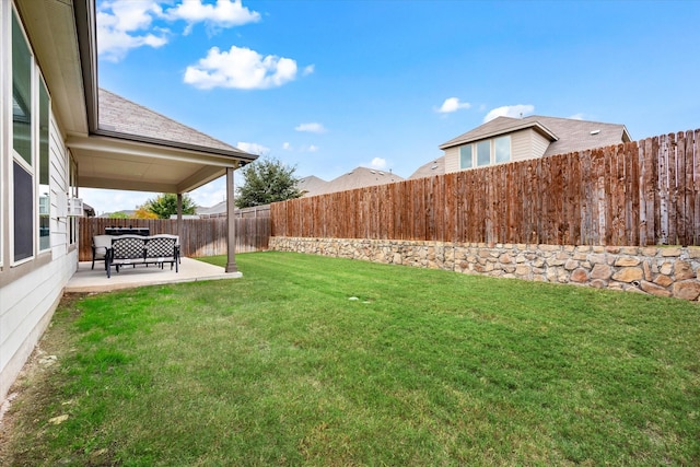
[[270,237],[270,249],[698,301],[700,247]]

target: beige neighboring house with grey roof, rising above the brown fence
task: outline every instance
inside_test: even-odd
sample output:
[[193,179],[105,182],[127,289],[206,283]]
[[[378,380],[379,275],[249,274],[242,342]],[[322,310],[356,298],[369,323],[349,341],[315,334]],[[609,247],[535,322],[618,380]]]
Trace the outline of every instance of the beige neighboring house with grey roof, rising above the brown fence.
[[603,148],[631,138],[625,125],[530,116],[498,117],[443,144],[446,173]]

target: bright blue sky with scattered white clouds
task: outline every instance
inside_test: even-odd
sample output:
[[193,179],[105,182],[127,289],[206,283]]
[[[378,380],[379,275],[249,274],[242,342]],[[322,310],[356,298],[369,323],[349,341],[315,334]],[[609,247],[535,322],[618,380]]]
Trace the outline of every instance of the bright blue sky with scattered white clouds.
[[[499,115],[700,128],[700,1],[97,0],[100,85],[330,180]],[[98,212],[156,194],[82,189]],[[222,179],[191,194],[224,199]]]

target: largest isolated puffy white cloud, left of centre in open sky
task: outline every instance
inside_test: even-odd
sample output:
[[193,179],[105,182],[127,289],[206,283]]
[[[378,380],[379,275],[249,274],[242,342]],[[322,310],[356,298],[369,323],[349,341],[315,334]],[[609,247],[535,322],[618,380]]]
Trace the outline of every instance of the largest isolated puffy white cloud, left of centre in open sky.
[[296,62],[272,55],[262,57],[255,50],[231,46],[209,49],[207,57],[187,67],[184,81],[199,89],[235,87],[241,90],[281,86],[296,78]]

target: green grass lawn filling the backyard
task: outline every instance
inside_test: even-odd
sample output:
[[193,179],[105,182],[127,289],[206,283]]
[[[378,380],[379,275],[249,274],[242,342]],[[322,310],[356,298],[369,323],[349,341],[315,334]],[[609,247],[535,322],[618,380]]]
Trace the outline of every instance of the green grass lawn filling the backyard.
[[236,259],[240,280],[65,300],[0,464],[700,464],[697,303]]

